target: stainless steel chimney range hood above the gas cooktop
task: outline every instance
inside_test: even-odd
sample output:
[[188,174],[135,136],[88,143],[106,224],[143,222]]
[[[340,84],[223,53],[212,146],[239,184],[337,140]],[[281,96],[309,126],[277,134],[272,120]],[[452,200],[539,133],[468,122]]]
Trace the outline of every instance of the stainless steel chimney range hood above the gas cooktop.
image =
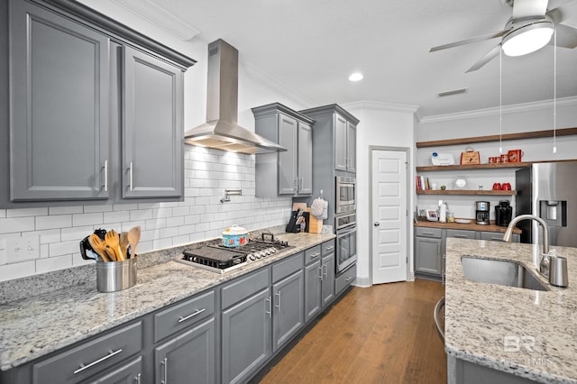
[[184,133],[185,143],[223,151],[287,151],[237,124],[238,50],[222,39],[208,44],[206,123]]

